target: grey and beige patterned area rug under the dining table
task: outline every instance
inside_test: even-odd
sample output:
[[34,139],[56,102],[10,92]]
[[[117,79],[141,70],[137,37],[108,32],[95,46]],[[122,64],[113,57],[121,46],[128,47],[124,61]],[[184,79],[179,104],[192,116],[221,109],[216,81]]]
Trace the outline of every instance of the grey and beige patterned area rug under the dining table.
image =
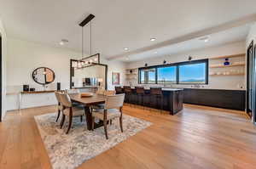
[[[73,118],[73,127],[68,134],[55,122],[56,113],[34,118],[54,169],[76,168],[151,125],[149,121],[123,115],[124,132],[120,132],[119,119],[115,119],[108,125],[107,140],[103,127],[88,131],[86,122],[80,122],[80,118]],[[64,128],[67,129],[67,123]]]

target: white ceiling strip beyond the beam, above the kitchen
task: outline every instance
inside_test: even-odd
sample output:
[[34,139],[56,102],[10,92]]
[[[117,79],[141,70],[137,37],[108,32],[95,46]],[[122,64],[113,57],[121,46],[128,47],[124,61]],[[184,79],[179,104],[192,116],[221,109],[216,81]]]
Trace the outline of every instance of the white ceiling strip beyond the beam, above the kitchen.
[[190,51],[198,48],[218,46],[230,42],[241,42],[243,40],[246,40],[247,33],[250,30],[250,27],[251,24],[247,24],[236,28],[232,28],[230,30],[210,34],[207,36],[209,37],[209,42],[204,42],[201,41],[200,38],[195,38],[189,41],[178,42],[163,48],[155,48],[139,54],[131,54],[125,57],[119,57],[118,60],[124,62],[132,62],[153,57],[157,58],[163,55],[183,53],[185,51]]

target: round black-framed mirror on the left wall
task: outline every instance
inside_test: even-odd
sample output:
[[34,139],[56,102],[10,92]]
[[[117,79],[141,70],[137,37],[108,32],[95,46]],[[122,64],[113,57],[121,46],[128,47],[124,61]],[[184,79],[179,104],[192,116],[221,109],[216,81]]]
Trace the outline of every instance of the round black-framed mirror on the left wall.
[[46,85],[55,81],[55,72],[47,67],[38,67],[33,70],[32,78],[35,82]]

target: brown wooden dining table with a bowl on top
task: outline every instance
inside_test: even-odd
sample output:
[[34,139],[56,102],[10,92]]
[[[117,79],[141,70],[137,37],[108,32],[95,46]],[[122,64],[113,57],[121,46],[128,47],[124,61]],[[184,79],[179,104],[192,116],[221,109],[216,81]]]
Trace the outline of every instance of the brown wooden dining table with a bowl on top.
[[[69,97],[72,102],[82,104],[84,106],[84,113],[86,117],[86,125],[88,130],[92,130],[92,112],[90,109],[91,105],[96,105],[96,104],[104,104],[106,96],[101,95],[101,94],[96,94],[94,93],[90,97],[81,97],[81,94],[79,93],[74,93],[74,94],[69,94]],[[102,127],[103,126],[103,121],[95,122],[94,128]]]

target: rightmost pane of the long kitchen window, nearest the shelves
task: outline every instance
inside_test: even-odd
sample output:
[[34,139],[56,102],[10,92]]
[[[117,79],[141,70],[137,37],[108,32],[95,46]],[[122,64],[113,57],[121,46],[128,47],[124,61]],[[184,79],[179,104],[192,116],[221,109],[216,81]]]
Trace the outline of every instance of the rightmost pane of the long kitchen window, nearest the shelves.
[[179,65],[179,83],[206,84],[206,63]]

